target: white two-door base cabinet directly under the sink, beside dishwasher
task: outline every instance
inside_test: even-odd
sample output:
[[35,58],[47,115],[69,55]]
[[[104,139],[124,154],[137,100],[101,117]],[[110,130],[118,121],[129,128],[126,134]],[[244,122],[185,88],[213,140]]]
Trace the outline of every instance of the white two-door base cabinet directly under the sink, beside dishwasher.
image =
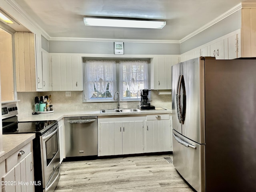
[[98,156],[143,153],[144,117],[98,117]]

